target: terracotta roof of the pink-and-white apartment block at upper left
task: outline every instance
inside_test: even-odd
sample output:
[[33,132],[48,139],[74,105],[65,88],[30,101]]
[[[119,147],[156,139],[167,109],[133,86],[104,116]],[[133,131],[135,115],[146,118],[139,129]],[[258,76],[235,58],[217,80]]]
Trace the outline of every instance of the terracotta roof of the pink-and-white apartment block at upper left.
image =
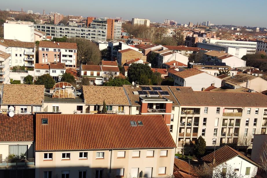
[[39,48],[40,47],[60,48],[60,49],[77,49],[77,44],[67,43],[67,42],[55,42],[54,43],[53,41],[40,41]]

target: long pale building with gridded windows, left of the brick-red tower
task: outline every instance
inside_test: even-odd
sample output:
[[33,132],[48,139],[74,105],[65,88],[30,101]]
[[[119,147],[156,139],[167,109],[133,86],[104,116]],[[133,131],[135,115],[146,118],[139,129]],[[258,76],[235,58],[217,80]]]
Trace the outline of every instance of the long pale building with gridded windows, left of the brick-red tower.
[[[35,24],[34,28],[56,38],[83,38],[88,40],[107,40],[107,24],[94,23],[91,27],[72,27],[50,24]],[[97,26],[97,27],[96,27]],[[99,28],[101,27],[101,29]],[[96,30],[98,29],[98,30]]]

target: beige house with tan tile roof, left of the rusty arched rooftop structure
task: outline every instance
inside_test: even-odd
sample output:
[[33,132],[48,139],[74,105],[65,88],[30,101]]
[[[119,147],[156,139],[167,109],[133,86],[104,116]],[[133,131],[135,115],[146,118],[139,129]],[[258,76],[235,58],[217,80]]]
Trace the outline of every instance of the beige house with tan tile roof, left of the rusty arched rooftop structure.
[[33,113],[43,110],[44,85],[3,84],[1,111],[14,107],[15,114]]

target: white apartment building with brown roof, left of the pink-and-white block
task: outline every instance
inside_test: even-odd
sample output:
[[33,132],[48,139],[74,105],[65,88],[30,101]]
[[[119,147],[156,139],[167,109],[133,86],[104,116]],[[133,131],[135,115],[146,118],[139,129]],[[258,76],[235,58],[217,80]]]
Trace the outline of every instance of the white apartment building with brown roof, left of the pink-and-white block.
[[17,40],[1,40],[0,50],[10,54],[9,67],[16,65],[33,67],[35,61],[35,43]]

